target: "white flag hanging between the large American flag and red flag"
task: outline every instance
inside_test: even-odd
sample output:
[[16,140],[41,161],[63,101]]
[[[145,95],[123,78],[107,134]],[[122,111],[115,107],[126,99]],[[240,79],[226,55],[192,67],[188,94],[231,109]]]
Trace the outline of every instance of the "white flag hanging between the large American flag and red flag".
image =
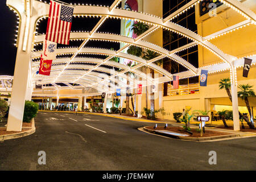
[[49,40],[44,40],[42,58],[44,60],[56,59],[57,43]]

